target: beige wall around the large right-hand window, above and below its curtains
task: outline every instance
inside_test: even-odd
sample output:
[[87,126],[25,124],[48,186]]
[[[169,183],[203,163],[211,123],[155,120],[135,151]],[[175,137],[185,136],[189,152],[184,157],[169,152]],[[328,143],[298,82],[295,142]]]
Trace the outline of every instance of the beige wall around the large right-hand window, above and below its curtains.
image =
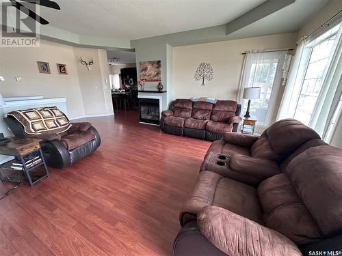
[[[310,35],[318,27],[328,21],[332,16],[342,10],[341,0],[330,0],[324,5],[298,32],[298,40],[304,35]],[[342,148],[342,116],[337,123],[337,128],[332,136],[331,144]]]

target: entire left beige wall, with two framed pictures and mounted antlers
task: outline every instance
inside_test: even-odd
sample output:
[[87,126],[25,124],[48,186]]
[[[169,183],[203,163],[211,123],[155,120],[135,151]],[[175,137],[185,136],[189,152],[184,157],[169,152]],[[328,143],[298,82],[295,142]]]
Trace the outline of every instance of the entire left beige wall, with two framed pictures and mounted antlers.
[[[79,61],[92,57],[88,71]],[[51,74],[40,74],[37,61],[50,64]],[[68,74],[57,74],[56,63],[66,64]],[[45,40],[38,48],[0,48],[0,93],[10,96],[65,97],[70,118],[112,113],[109,72],[105,50],[77,48]],[[16,82],[15,76],[22,81]]]

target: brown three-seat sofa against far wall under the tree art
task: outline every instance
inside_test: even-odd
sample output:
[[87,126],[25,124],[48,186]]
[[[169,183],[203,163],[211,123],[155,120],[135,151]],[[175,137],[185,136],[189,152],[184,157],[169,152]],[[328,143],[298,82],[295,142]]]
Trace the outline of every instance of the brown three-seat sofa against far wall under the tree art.
[[215,141],[221,139],[224,132],[236,132],[241,118],[241,105],[233,100],[192,102],[189,99],[177,99],[170,110],[161,113],[161,130],[188,137]]

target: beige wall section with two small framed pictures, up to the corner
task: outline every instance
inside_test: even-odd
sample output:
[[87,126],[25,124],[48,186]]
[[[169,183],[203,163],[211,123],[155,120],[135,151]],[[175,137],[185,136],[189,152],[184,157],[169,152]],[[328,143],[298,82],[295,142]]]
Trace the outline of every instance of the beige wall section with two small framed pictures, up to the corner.
[[[51,74],[40,74],[37,61],[50,64]],[[66,64],[68,75],[57,74],[56,63]],[[39,48],[0,48],[0,93],[10,96],[65,97],[70,117],[84,115],[73,47],[41,41]],[[17,82],[15,76],[23,81]]]

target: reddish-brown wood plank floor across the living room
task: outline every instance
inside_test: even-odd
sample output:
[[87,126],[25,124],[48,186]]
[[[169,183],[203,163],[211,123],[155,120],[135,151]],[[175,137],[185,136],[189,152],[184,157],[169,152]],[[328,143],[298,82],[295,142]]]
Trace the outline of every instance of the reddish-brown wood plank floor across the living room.
[[172,255],[210,143],[139,124],[134,110],[86,120],[102,138],[94,154],[0,201],[0,255]]

